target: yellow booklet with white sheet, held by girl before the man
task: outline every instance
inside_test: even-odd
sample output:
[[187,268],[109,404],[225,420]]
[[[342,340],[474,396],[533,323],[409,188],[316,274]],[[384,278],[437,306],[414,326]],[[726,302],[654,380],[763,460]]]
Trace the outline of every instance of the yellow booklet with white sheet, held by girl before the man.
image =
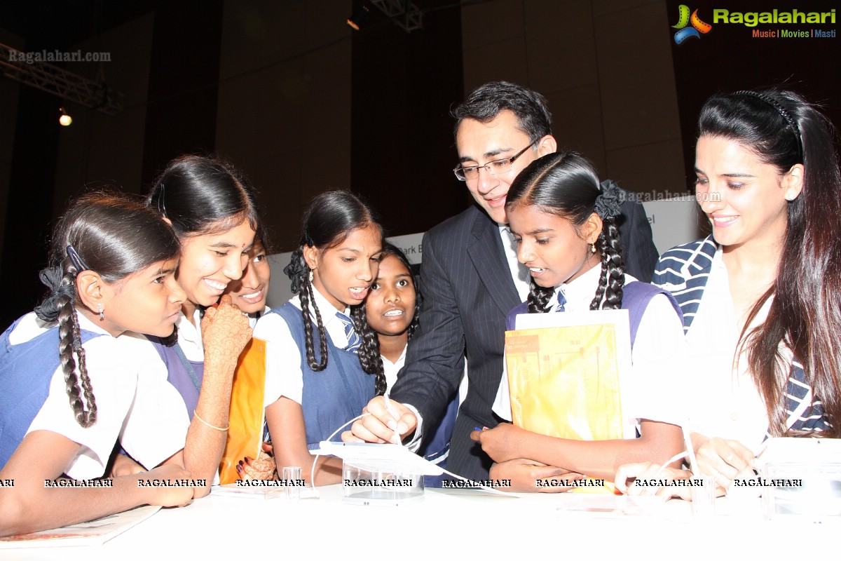
[[519,315],[516,327],[505,332],[516,426],[574,440],[636,437],[622,415],[621,380],[631,368],[626,310]]

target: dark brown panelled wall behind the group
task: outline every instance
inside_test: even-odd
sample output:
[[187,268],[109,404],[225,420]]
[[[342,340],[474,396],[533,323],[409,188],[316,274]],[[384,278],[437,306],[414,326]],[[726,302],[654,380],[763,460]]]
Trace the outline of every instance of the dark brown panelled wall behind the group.
[[[449,109],[474,87],[506,79],[547,96],[561,146],[640,193],[685,191],[695,119],[717,91],[787,82],[841,124],[841,39],[757,39],[713,24],[675,45],[672,0],[414,0],[424,29],[407,34],[361,0],[42,0],[0,4],[0,43],[18,50],[108,52],[59,66],[125,96],[108,116],[0,77],[0,320],[40,297],[50,226],[85,188],[148,188],[184,152],[219,153],[251,178],[275,249],[297,239],[316,193],[352,188],[389,233],[430,228],[470,198]],[[765,2],[689,4],[762,11]],[[778,10],[828,11],[829,0]],[[837,18],[839,16],[836,16]],[[758,26],[838,29],[838,24]],[[74,123],[62,128],[64,105]]]

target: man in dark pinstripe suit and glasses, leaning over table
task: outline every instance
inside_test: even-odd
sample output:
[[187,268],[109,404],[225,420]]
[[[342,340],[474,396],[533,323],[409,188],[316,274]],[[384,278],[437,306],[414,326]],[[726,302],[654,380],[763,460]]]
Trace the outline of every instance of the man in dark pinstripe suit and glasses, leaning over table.
[[[505,315],[526,299],[528,270],[516,261],[507,228],[505,196],[529,163],[558,150],[546,100],[510,82],[489,82],[453,112],[460,164],[453,170],[476,201],[462,214],[426,232],[421,262],[421,325],[391,402],[375,398],[372,415],[352,427],[369,442],[433,432],[458,388],[468,362],[468,395],[458,411],[447,468],[470,479],[488,479],[490,458],[470,432],[495,426],[491,412],[502,376]],[[627,272],[651,280],[657,250],[642,204],[626,201],[619,220]],[[627,242],[626,242],[627,240]],[[390,409],[390,413],[389,413]],[[415,431],[417,428],[417,431]],[[346,437],[351,439],[351,437]],[[535,479],[557,468],[523,464]]]

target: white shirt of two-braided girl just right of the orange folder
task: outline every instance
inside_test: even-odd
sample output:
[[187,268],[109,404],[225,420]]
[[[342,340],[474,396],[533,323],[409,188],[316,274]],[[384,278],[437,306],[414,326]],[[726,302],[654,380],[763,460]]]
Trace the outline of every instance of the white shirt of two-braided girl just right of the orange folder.
[[[325,299],[313,286],[313,300],[318,306],[321,322],[327,336],[336,347],[347,347],[345,325],[336,317],[336,307]],[[298,310],[301,310],[301,300],[296,294],[289,299]],[[346,308],[343,313],[351,317],[351,311]],[[315,322],[315,309],[309,303],[309,317]],[[254,328],[254,336],[266,341],[266,390],[263,393],[263,406],[272,405],[281,397],[300,404],[304,394],[304,373],[301,371],[301,357],[306,349],[299,349],[289,331],[289,326],[279,314],[263,315]],[[316,357],[320,358],[318,348]]]

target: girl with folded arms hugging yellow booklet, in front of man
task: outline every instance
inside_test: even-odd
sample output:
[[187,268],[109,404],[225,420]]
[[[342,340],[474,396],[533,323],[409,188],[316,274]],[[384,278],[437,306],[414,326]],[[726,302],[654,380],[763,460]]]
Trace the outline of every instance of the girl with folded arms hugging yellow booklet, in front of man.
[[[512,183],[506,211],[517,257],[530,268],[528,300],[511,310],[509,329],[521,313],[629,310],[632,379],[621,382],[625,434],[640,437],[583,442],[547,437],[509,423],[474,431],[473,440],[496,462],[492,479],[512,488],[542,490],[536,479],[564,471],[612,480],[630,458],[665,461],[683,448],[674,401],[680,398],[671,359],[683,344],[677,304],[663,290],[624,273],[615,216],[618,191],[601,191],[590,162],[556,152],[533,161]],[[500,334],[502,336],[502,334]],[[503,375],[495,412],[510,419]],[[677,423],[677,424],[675,424]],[[553,488],[558,490],[560,488]]]

